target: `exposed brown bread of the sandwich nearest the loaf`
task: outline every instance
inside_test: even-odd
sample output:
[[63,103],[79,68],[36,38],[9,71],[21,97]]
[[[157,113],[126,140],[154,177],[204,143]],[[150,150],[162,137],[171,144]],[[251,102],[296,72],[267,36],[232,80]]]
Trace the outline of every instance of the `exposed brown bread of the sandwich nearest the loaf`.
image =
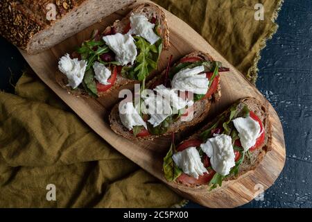
[[[149,20],[152,18],[156,19],[156,23],[159,24],[159,29],[157,30],[159,35],[161,35],[163,40],[163,49],[168,50],[170,46],[169,42],[169,30],[167,26],[166,17],[164,12],[153,3],[142,3],[136,6],[131,12],[128,13],[123,19],[116,20],[112,26],[108,26],[103,33],[110,33],[111,29],[114,28],[114,32],[116,33],[124,33],[127,26],[130,24],[130,16],[133,14],[145,15]],[[68,80],[67,77],[62,74],[62,72],[57,71],[55,74],[55,79],[57,83],[64,89],[67,89],[69,94],[73,94],[75,96],[83,96],[90,97],[88,92],[84,89],[76,88],[72,89],[67,86]],[[116,81],[114,85],[105,92],[98,92],[98,96],[103,96],[105,94],[109,94],[112,90],[123,87],[124,85],[128,85],[128,83],[139,83],[137,80],[130,80],[128,78],[124,78],[120,74],[117,75]]]

